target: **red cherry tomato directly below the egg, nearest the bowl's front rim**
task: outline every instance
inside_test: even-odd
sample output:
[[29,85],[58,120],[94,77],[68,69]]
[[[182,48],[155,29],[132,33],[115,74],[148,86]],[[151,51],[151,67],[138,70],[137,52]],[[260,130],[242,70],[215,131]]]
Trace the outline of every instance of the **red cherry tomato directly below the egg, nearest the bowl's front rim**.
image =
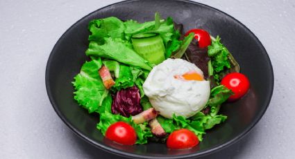
[[199,144],[199,139],[187,129],[174,131],[167,139],[169,149],[187,149],[196,146],[196,144]]

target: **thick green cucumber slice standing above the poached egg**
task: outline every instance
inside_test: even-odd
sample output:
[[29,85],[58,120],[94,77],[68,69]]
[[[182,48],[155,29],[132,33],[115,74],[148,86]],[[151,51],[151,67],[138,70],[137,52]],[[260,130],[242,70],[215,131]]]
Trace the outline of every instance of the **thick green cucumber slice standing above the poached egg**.
[[135,52],[151,64],[160,64],[165,60],[165,46],[157,33],[144,33],[132,37]]

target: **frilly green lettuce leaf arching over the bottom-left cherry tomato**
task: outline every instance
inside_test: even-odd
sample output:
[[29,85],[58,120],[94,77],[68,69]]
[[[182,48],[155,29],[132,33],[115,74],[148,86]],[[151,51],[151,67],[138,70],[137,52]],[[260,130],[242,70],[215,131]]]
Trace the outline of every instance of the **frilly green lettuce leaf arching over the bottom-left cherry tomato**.
[[112,114],[108,111],[101,113],[100,121],[99,124],[96,125],[96,128],[101,130],[101,133],[103,133],[103,135],[106,135],[108,127],[110,127],[111,124],[119,121],[126,122],[135,129],[135,132],[137,134],[136,144],[146,144],[147,139],[153,136],[151,133],[151,129],[147,127],[148,122],[144,122],[143,124],[135,124],[131,117],[126,118],[121,115]]

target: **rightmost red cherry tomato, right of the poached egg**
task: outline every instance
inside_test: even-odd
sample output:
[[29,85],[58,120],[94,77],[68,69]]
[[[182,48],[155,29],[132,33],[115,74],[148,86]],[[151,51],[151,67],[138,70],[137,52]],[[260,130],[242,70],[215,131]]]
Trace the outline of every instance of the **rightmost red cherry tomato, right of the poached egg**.
[[250,87],[248,78],[242,73],[229,73],[221,79],[221,84],[234,93],[228,98],[228,101],[235,101],[243,97]]

